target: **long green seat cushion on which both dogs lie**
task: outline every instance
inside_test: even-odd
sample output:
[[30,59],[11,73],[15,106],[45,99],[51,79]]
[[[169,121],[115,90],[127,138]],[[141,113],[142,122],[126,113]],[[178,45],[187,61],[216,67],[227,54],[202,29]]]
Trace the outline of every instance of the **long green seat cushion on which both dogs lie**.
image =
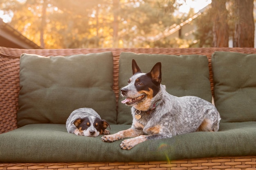
[[[111,133],[130,125],[111,125]],[[148,140],[122,150],[98,137],[67,133],[64,124],[29,124],[0,135],[0,162],[168,161],[256,155],[256,122],[220,123],[218,132],[193,132]]]

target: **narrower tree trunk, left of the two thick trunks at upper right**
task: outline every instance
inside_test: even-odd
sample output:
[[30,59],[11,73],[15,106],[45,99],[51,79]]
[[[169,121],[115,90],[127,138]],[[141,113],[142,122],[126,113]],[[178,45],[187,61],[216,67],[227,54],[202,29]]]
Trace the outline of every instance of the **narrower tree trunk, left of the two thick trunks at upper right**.
[[226,0],[212,0],[213,47],[229,46]]

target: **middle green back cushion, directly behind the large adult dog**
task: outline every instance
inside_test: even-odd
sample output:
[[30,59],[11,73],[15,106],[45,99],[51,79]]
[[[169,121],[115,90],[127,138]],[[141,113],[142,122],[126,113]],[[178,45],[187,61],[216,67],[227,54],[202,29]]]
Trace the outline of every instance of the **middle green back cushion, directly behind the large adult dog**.
[[[166,91],[178,97],[194,95],[211,102],[209,82],[209,62],[204,55],[160,55],[135,54],[124,52],[119,60],[119,88],[127,85],[132,76],[132,59],[135,59],[142,72],[148,73],[157,62],[162,63],[162,83]],[[118,102],[118,124],[131,124],[130,107]]]

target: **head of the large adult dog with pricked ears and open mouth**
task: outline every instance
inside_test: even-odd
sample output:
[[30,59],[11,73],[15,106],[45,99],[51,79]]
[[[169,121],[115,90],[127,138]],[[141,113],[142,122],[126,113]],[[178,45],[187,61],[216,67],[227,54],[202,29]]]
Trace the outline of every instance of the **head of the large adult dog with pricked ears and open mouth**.
[[121,88],[121,95],[126,97],[122,103],[138,110],[149,110],[151,100],[160,90],[161,63],[155,64],[149,73],[142,73],[135,60],[132,60],[132,74],[128,85]]

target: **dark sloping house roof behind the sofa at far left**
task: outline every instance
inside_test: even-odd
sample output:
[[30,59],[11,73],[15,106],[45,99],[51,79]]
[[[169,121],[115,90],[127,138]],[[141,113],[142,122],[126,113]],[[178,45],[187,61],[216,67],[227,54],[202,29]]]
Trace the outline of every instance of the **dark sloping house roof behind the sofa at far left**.
[[27,39],[10,24],[0,18],[0,46],[17,49],[42,49],[36,43]]

